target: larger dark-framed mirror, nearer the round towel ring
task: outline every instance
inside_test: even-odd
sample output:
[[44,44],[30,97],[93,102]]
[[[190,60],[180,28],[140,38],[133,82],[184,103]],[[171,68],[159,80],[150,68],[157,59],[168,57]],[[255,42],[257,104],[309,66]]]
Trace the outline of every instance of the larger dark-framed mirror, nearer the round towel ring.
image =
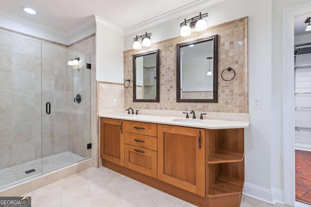
[[177,45],[177,102],[217,103],[217,36]]

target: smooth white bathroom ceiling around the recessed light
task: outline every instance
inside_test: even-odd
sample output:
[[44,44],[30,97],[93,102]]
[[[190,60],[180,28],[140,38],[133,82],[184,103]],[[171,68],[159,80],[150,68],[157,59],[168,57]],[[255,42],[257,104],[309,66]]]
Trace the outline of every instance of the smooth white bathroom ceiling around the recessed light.
[[[27,20],[69,32],[93,15],[126,29],[203,0],[0,0],[0,9]],[[36,15],[22,11],[27,6]]]

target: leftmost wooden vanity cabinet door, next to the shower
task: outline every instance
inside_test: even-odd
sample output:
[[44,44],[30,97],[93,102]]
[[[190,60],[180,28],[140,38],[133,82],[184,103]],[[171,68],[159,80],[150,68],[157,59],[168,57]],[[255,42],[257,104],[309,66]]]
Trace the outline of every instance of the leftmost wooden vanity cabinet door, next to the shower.
[[101,118],[101,158],[124,166],[124,121]]

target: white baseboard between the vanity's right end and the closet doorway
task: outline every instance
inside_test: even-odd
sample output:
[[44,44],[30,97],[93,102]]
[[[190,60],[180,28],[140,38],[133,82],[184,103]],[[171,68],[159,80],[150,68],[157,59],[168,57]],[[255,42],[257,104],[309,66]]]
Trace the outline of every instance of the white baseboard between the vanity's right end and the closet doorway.
[[272,205],[276,203],[284,204],[283,191],[279,189],[266,189],[249,183],[244,183],[243,195],[255,198]]

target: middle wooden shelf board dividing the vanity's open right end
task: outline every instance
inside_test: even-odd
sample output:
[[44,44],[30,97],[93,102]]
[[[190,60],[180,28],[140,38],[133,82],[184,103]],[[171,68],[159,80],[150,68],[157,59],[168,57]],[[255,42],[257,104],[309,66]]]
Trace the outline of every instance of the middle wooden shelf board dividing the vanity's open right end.
[[208,164],[226,163],[226,162],[241,162],[244,158],[244,152],[232,151],[226,149],[217,149],[207,159]]

